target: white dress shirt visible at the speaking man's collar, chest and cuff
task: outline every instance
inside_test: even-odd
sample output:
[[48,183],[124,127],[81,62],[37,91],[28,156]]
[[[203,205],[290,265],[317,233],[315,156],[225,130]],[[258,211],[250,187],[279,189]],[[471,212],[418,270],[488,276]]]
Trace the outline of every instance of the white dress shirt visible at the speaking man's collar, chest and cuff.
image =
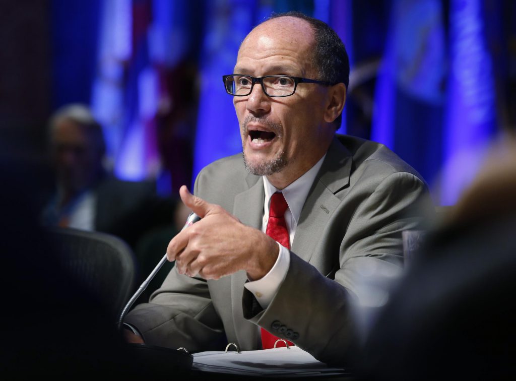
[[[303,209],[304,201],[307,200],[310,187],[312,186],[315,176],[317,175],[325,157],[326,154],[299,179],[294,181],[292,184],[289,184],[281,191],[288,204],[288,209],[285,211],[285,223],[287,225],[291,247],[292,242],[294,241],[294,236],[296,235],[296,228],[299,216],[301,215],[301,210]],[[280,191],[278,191],[278,189],[276,189],[276,187],[267,180],[266,176],[263,177],[263,186],[265,188],[265,201],[262,231],[265,233],[269,220],[270,197]],[[272,298],[276,295],[281,282],[285,279],[288,266],[290,265],[290,253],[288,249],[279,243],[278,245],[280,246],[280,253],[276,263],[272,266],[270,271],[263,278],[249,281],[244,284],[244,287],[254,294],[256,300],[263,309],[266,309],[269,306]]]

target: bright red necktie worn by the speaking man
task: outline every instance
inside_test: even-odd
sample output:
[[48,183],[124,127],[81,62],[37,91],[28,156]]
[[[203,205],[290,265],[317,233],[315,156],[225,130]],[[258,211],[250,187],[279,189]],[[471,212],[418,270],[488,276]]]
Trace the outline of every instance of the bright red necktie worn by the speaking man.
[[[285,201],[282,193],[275,193],[270,198],[269,221],[267,223],[267,230],[265,234],[271,237],[276,242],[279,242],[287,249],[290,248],[290,241],[288,235],[287,224],[285,223],[285,211],[288,209],[288,204]],[[262,348],[269,349],[274,347],[274,343],[278,340],[270,334],[267,330],[262,328]],[[288,345],[294,345],[287,340]],[[283,341],[278,342],[277,346],[285,346]]]

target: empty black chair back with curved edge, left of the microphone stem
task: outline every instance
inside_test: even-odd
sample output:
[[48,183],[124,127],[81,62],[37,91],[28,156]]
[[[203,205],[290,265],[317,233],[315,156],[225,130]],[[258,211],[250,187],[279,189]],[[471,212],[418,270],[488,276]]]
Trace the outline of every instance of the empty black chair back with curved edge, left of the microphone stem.
[[115,322],[134,291],[135,257],[131,248],[110,234],[50,228],[63,271],[100,300]]

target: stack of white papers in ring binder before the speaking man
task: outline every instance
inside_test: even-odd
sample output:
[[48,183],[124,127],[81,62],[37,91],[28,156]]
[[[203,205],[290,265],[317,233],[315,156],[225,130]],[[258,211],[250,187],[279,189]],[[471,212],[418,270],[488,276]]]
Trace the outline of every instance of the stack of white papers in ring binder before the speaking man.
[[193,356],[193,370],[250,376],[314,377],[349,374],[329,368],[297,346],[244,352],[200,352]]

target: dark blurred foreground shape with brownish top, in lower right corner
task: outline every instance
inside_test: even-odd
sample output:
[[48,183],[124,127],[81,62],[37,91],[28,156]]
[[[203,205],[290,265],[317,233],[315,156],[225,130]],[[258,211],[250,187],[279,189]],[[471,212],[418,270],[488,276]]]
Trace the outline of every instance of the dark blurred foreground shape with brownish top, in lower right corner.
[[428,236],[369,332],[364,378],[516,377],[516,147]]

